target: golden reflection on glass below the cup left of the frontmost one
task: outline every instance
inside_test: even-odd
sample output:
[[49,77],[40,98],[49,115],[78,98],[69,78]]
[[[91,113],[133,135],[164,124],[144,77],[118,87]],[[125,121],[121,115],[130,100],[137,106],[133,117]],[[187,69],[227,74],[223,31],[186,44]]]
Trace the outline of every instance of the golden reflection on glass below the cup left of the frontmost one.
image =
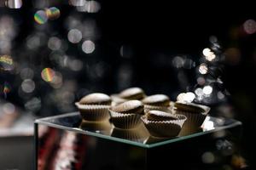
[[120,128],[113,128],[111,136],[119,138],[119,139],[128,139],[135,142],[143,143],[145,139],[148,138],[148,135],[143,133],[137,128],[133,129],[120,129]]

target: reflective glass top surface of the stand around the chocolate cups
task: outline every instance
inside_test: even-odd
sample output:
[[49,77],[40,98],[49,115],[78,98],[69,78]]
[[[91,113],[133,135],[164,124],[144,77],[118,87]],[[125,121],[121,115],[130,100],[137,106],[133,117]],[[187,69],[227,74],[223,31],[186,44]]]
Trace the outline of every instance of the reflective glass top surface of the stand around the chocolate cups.
[[[177,138],[174,139],[152,139],[148,130],[143,124],[132,130],[124,131],[113,128],[112,122],[82,122],[79,112],[56,116],[55,118],[39,119],[38,123],[47,123],[50,126],[57,126],[61,129],[66,129],[76,133],[84,133],[96,136],[102,139],[110,139],[113,141],[123,142],[125,144],[134,144],[142,147],[154,147],[159,144],[172,143],[178,140],[193,138],[204,133],[218,131],[218,128],[227,128],[230,126],[241,125],[241,122],[236,122],[232,119],[216,118],[207,116],[202,126],[193,128],[191,126],[182,128]],[[218,131],[221,132],[221,131]],[[87,136],[87,135],[84,135]],[[150,137],[150,139],[149,139]],[[181,138],[182,137],[182,138]]]

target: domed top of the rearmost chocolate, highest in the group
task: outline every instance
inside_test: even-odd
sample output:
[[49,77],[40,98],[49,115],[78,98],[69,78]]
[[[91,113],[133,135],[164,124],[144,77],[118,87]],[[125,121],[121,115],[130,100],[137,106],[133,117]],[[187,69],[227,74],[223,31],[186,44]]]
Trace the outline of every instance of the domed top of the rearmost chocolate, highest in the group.
[[142,88],[127,88],[119,93],[122,99],[143,99],[145,96]]

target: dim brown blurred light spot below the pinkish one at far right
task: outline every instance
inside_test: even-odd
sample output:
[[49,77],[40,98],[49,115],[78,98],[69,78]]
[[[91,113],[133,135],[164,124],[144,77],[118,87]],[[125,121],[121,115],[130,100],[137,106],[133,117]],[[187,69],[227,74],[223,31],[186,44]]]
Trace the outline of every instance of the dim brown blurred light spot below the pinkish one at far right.
[[224,54],[226,61],[230,65],[237,65],[241,59],[241,52],[238,48],[228,48]]

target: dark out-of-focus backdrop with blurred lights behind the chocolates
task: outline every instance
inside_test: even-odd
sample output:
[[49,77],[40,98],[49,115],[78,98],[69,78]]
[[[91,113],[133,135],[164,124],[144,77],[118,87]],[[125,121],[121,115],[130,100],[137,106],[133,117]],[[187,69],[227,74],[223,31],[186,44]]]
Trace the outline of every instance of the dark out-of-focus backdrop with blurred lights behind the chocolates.
[[[10,71],[1,71],[3,98],[4,84],[8,83],[5,99],[35,115],[50,116],[76,111],[74,101],[85,94],[113,94],[132,86],[143,88],[146,94],[167,94],[176,100],[180,93],[203,87],[198,77],[204,77],[208,85],[213,83],[212,92],[218,88],[222,94],[197,102],[212,106],[212,115],[243,122],[242,150],[253,167],[253,3],[98,1],[100,9],[95,12],[98,6],[94,3],[89,9],[79,9],[73,2],[23,1],[21,8],[0,4],[0,35],[3,37],[1,29],[13,28],[9,33],[11,48],[1,48],[0,52],[11,56],[15,65]],[[49,7],[58,8],[60,16],[38,24],[34,14]],[[80,42],[71,42],[79,34],[68,38],[72,29],[82,32]],[[51,37],[55,38],[49,41]],[[7,46],[4,38],[0,42]],[[88,40],[95,47],[86,46],[89,51],[84,52],[83,42]],[[204,48],[212,48],[218,59],[203,59]],[[209,74],[212,71],[209,77],[198,71],[202,63],[207,63]],[[45,81],[44,68],[52,69],[46,76],[49,81]]]

